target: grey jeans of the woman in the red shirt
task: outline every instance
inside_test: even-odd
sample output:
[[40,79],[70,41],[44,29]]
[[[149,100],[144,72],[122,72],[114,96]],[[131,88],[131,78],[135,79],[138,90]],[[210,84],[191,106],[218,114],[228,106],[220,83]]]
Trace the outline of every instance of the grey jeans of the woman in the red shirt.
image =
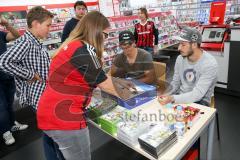
[[44,131],[59,146],[66,160],[91,160],[88,128]]

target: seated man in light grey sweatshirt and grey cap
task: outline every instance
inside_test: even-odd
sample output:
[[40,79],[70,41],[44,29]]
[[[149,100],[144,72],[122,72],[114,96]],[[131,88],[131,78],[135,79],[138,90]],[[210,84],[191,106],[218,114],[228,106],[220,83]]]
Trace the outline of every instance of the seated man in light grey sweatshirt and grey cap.
[[199,103],[210,105],[217,82],[218,64],[215,58],[201,50],[202,35],[194,28],[183,28],[179,40],[178,56],[171,82],[171,95],[160,97],[161,104]]

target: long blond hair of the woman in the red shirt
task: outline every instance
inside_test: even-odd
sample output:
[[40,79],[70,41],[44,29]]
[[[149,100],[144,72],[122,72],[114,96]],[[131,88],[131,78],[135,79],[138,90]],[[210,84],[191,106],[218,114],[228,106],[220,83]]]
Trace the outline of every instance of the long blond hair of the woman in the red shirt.
[[108,19],[98,11],[92,11],[87,13],[83,18],[78,22],[77,26],[70,33],[66,41],[61,45],[59,50],[64,47],[66,44],[73,40],[79,39],[82,42],[92,45],[96,49],[96,54],[99,59],[102,58],[103,53],[103,30],[110,27]]

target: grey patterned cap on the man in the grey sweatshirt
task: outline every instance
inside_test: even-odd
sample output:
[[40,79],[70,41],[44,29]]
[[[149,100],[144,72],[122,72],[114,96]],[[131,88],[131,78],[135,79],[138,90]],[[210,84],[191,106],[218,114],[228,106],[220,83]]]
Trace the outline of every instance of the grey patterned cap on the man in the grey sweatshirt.
[[184,27],[178,36],[173,36],[174,39],[179,41],[185,41],[185,42],[196,42],[201,43],[202,42],[202,35],[201,33],[191,27]]

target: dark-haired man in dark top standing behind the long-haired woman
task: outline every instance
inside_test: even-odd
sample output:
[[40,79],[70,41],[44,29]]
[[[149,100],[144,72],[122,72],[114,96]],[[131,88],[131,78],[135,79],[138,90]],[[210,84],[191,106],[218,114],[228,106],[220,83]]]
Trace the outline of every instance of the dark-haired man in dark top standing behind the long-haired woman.
[[73,17],[69,21],[67,21],[63,28],[63,34],[61,39],[62,43],[68,38],[69,34],[78,24],[80,19],[87,13],[87,5],[83,1],[77,1],[74,4],[74,11],[76,17]]

